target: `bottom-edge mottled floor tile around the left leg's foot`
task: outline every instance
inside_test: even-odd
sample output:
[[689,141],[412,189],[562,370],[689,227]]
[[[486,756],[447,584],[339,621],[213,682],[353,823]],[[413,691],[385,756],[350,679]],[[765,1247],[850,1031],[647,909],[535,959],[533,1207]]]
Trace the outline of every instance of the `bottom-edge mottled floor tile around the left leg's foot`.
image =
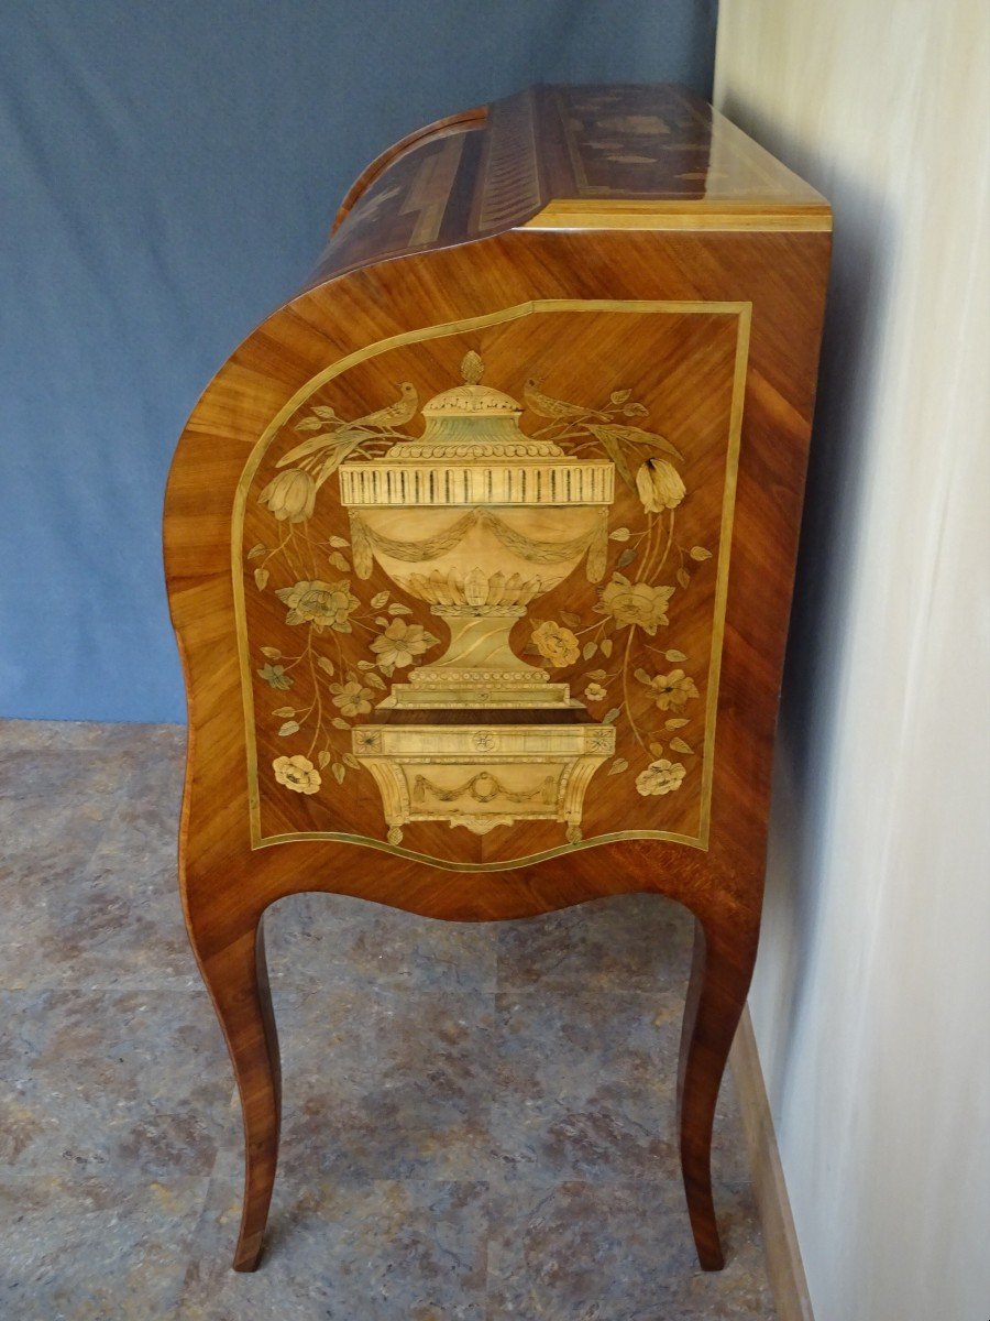
[[484,1321],[483,1184],[309,1180],[276,1194],[261,1268],[227,1269],[240,1189],[215,1181],[183,1321]]

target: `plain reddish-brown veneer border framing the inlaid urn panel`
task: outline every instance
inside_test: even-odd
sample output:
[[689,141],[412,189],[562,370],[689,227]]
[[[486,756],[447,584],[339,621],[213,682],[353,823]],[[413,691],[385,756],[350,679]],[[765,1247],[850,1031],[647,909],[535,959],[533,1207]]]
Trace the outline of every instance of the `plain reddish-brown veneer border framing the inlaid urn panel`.
[[[473,921],[655,889],[696,913],[718,896],[748,925],[762,893],[826,264],[817,234],[516,232],[355,272],[251,336],[193,413],[169,483],[169,592],[190,692],[187,902],[209,897],[215,910],[218,894],[236,905],[249,890],[260,910],[326,889]],[[606,297],[752,304],[708,852],[623,841],[480,877],[322,840],[252,851],[230,572],[231,507],[251,448],[305,382],[370,342],[532,299]]]

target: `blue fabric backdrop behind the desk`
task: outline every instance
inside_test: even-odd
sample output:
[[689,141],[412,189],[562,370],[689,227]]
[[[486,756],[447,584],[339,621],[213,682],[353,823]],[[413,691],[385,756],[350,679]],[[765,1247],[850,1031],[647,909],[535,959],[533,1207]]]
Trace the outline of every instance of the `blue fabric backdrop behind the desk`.
[[182,720],[176,437],[418,124],[531,82],[709,94],[715,0],[8,0],[0,716]]

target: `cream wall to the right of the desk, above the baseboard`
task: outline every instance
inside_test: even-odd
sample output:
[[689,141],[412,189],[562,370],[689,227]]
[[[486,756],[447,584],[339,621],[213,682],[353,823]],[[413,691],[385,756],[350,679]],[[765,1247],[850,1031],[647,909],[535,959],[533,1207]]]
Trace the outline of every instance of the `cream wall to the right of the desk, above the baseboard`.
[[986,0],[721,0],[836,259],[751,995],[817,1321],[990,1316]]

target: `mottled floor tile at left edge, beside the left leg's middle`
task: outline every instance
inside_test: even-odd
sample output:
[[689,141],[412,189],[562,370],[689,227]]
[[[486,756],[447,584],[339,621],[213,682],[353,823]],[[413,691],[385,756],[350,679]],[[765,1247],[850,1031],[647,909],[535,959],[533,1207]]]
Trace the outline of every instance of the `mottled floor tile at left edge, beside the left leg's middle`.
[[231,1075],[199,991],[0,995],[0,1164],[209,1174],[235,1143]]

